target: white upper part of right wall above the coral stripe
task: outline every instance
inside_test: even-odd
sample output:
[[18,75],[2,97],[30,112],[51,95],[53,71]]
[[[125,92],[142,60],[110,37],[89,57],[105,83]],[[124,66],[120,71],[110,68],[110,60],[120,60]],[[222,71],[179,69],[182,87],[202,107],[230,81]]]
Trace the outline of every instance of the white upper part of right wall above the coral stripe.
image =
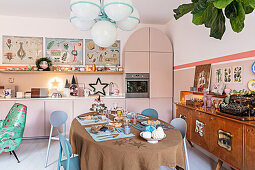
[[209,37],[210,31],[204,25],[194,25],[191,14],[179,20],[172,19],[166,25],[166,33],[174,47],[174,65],[255,50],[254,21],[255,13],[247,15],[244,30],[235,33],[227,20],[226,32],[222,40],[217,40]]

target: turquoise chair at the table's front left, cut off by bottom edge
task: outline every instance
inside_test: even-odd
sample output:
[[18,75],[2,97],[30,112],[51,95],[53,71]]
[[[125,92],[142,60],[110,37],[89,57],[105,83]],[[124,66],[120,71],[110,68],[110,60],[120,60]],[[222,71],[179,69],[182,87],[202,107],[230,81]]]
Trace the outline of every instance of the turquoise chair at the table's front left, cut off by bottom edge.
[[[58,158],[58,170],[63,166],[65,170],[80,170],[80,158],[79,156],[72,156],[72,147],[66,138],[58,131],[60,151]],[[67,159],[62,159],[62,152]]]

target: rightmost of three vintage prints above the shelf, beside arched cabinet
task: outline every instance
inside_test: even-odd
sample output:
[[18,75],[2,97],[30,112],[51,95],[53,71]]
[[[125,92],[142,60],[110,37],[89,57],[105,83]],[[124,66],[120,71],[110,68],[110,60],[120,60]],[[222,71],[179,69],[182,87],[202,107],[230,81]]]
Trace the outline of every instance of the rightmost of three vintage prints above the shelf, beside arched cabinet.
[[93,40],[85,40],[85,63],[86,65],[96,64],[98,66],[120,65],[120,41],[112,46],[103,48],[97,46]]

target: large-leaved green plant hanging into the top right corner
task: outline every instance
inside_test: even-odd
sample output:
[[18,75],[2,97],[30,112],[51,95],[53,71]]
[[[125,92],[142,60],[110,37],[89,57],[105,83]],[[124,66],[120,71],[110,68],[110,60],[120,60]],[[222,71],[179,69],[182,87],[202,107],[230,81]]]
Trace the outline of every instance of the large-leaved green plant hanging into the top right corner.
[[191,0],[173,11],[176,20],[191,12],[195,25],[210,28],[210,37],[221,39],[226,20],[230,21],[232,30],[239,33],[244,28],[245,15],[252,13],[254,8],[255,0]]

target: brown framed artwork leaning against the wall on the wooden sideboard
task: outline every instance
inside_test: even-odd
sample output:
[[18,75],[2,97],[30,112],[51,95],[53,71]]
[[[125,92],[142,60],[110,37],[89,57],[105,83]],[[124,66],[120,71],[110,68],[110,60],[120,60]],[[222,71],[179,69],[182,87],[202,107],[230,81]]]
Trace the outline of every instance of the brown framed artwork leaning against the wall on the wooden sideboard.
[[209,88],[211,77],[211,64],[196,66],[194,87]]

